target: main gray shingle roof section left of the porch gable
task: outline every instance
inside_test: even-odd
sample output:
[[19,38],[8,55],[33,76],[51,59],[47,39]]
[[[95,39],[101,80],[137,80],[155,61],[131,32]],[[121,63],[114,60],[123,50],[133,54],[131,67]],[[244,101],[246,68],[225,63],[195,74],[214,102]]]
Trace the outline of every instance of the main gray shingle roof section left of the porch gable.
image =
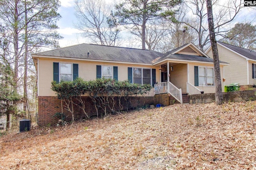
[[[89,56],[87,56],[88,52],[90,53]],[[154,59],[162,56],[163,54],[156,51],[142,49],[83,43],[37,53],[36,55],[152,64]]]

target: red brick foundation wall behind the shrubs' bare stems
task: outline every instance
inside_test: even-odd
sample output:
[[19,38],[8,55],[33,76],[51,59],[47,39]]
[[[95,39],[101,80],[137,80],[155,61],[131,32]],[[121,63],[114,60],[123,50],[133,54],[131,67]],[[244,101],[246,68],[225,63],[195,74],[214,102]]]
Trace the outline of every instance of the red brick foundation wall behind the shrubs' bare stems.
[[[82,97],[86,104],[86,113],[89,116],[96,116],[96,109],[90,97]],[[117,101],[117,98],[116,98]],[[145,102],[145,103],[144,103]],[[122,106],[124,106],[123,110],[126,110],[126,102],[124,98],[121,98]],[[132,105],[128,105],[128,109],[132,107],[145,106],[154,104],[154,96],[146,96],[146,97],[132,97]],[[115,104],[115,107],[118,108],[118,103]],[[119,108],[118,108],[119,109]],[[62,106],[61,100],[59,100],[56,96],[38,96],[38,125],[44,126],[48,124],[58,123],[58,118],[53,117],[55,113],[61,113]],[[67,120],[72,120],[72,115],[70,112],[66,111],[63,107],[63,113],[67,116]],[[104,113],[103,110],[99,109],[99,113]],[[74,118],[81,119],[86,117],[81,109],[74,106]]]

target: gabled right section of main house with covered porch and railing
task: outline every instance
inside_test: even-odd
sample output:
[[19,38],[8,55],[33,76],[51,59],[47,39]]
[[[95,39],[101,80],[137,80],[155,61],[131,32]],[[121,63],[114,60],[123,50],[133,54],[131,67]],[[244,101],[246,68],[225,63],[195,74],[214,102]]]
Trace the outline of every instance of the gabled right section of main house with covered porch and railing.
[[[227,64],[220,61],[221,80]],[[154,94],[170,94],[183,103],[182,94],[215,93],[213,59],[193,43],[169,51],[153,65],[158,67],[156,74],[160,77],[159,83],[154,84]]]

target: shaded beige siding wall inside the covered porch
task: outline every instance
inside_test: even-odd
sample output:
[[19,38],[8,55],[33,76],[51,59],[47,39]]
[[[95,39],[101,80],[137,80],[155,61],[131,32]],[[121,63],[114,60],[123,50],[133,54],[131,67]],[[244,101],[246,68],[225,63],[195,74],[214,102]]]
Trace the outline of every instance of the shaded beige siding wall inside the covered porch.
[[187,64],[176,64],[173,71],[170,71],[170,82],[177,88],[181,88],[182,93],[186,93]]

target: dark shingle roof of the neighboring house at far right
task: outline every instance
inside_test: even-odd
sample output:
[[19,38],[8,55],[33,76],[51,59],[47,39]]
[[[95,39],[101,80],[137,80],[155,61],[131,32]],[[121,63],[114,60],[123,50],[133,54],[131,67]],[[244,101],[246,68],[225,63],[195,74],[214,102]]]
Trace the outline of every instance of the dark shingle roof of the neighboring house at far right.
[[255,51],[251,51],[251,50],[248,50],[248,49],[243,49],[243,48],[240,48],[240,47],[236,47],[234,45],[222,43],[220,41],[218,41],[218,43],[228,47],[229,49],[231,49],[233,51],[236,51],[236,53],[239,53],[239,54],[243,55],[244,57],[247,57],[248,59],[256,60],[256,52]]

